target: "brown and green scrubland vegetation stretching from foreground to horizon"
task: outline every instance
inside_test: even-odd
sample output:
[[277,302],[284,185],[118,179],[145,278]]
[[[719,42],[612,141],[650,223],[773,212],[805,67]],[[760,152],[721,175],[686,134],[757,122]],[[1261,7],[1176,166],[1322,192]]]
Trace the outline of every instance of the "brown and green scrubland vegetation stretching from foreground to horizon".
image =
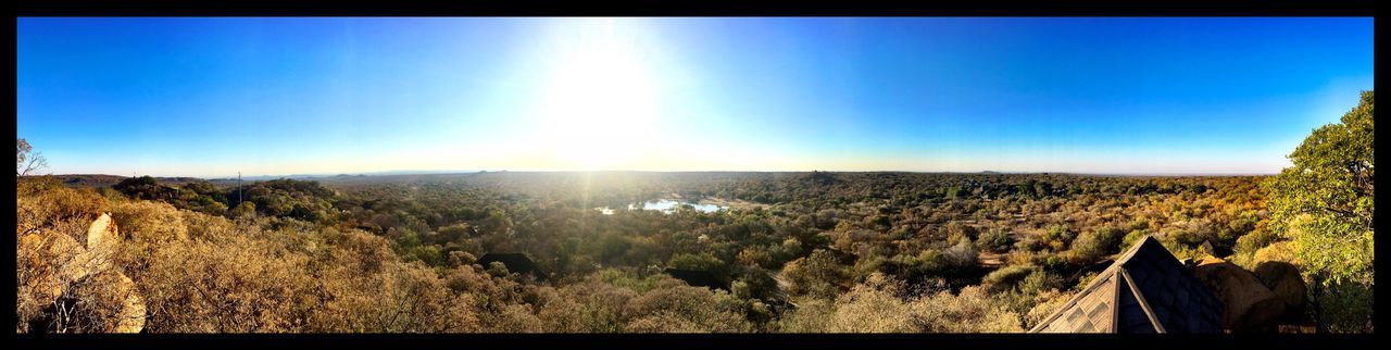
[[[143,332],[1022,332],[1153,235],[1180,258],[1294,262],[1317,286],[1305,321],[1372,332],[1372,94],[1348,115],[1276,176],[22,176],[15,328],[110,332],[136,293]],[[594,210],[672,196],[753,204]],[[120,229],[113,264],[68,278],[102,212]]]

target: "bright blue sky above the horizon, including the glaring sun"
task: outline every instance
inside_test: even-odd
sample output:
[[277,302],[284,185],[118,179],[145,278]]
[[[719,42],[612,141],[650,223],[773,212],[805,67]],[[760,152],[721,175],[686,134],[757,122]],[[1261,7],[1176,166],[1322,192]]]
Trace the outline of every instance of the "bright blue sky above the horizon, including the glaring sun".
[[1370,18],[21,18],[54,174],[1270,174]]

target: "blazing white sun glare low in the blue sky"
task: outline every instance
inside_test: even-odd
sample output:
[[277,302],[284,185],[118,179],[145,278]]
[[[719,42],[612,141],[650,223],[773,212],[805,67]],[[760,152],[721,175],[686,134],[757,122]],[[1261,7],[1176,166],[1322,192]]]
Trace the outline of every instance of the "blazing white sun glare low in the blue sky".
[[544,92],[540,142],[565,168],[633,167],[658,117],[657,81],[634,28],[583,22],[566,39]]

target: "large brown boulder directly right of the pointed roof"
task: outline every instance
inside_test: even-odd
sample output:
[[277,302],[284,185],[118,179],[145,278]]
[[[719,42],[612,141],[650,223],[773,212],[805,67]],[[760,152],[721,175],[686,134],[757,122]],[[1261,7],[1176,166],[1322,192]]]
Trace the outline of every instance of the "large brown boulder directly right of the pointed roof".
[[1198,261],[1193,275],[1225,306],[1223,324],[1232,332],[1269,329],[1285,312],[1284,299],[1235,264],[1205,257]]

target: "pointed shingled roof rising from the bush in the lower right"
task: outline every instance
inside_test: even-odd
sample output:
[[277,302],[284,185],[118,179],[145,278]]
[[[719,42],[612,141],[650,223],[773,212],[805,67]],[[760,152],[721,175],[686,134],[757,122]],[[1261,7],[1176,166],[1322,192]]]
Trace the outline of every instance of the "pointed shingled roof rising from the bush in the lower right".
[[1032,333],[1221,333],[1221,301],[1152,236]]

